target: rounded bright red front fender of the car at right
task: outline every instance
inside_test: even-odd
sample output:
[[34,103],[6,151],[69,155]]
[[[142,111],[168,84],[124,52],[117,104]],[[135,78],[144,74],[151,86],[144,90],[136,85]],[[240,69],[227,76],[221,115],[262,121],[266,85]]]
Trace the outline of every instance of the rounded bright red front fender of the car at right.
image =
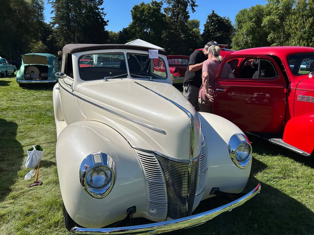
[[314,115],[291,118],[284,127],[283,141],[314,154]]

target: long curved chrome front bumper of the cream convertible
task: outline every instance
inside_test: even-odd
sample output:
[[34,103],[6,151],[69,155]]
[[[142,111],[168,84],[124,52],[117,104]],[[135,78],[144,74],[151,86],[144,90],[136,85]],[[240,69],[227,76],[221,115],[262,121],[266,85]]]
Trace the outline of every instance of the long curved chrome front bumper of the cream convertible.
[[152,224],[144,224],[138,226],[130,227],[117,227],[117,228],[80,228],[73,227],[71,229],[71,234],[93,234],[93,235],[103,235],[103,234],[160,234],[164,232],[172,232],[178,229],[194,227],[211,220],[212,218],[218,216],[219,214],[231,211],[242,205],[244,202],[251,199],[261,190],[261,185],[258,184],[255,189],[253,189],[248,194],[243,197],[230,202],[224,206],[220,206],[213,210],[203,212],[197,215],[192,215],[189,217],[184,217],[176,220],[169,220],[165,222],[158,222]]

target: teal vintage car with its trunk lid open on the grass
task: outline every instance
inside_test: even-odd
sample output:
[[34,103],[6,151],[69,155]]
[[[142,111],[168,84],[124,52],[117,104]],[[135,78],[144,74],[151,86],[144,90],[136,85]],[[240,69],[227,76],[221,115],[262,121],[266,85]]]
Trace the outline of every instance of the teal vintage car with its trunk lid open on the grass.
[[59,72],[57,57],[45,53],[22,55],[22,65],[16,74],[16,82],[20,87],[27,83],[57,82],[55,73]]

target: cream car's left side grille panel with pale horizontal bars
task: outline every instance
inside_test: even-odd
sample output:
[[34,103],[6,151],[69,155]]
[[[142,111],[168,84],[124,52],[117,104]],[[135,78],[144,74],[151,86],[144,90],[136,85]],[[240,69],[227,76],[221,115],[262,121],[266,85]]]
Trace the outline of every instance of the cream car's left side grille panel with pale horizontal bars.
[[134,149],[145,173],[147,194],[146,214],[154,220],[165,221],[167,217],[167,192],[165,179],[154,153]]

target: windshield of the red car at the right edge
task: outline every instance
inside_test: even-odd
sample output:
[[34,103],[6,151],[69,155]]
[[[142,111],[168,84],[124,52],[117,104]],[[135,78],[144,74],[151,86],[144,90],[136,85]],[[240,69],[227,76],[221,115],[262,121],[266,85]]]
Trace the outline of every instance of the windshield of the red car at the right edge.
[[314,54],[290,55],[288,64],[294,75],[309,74],[314,71]]

